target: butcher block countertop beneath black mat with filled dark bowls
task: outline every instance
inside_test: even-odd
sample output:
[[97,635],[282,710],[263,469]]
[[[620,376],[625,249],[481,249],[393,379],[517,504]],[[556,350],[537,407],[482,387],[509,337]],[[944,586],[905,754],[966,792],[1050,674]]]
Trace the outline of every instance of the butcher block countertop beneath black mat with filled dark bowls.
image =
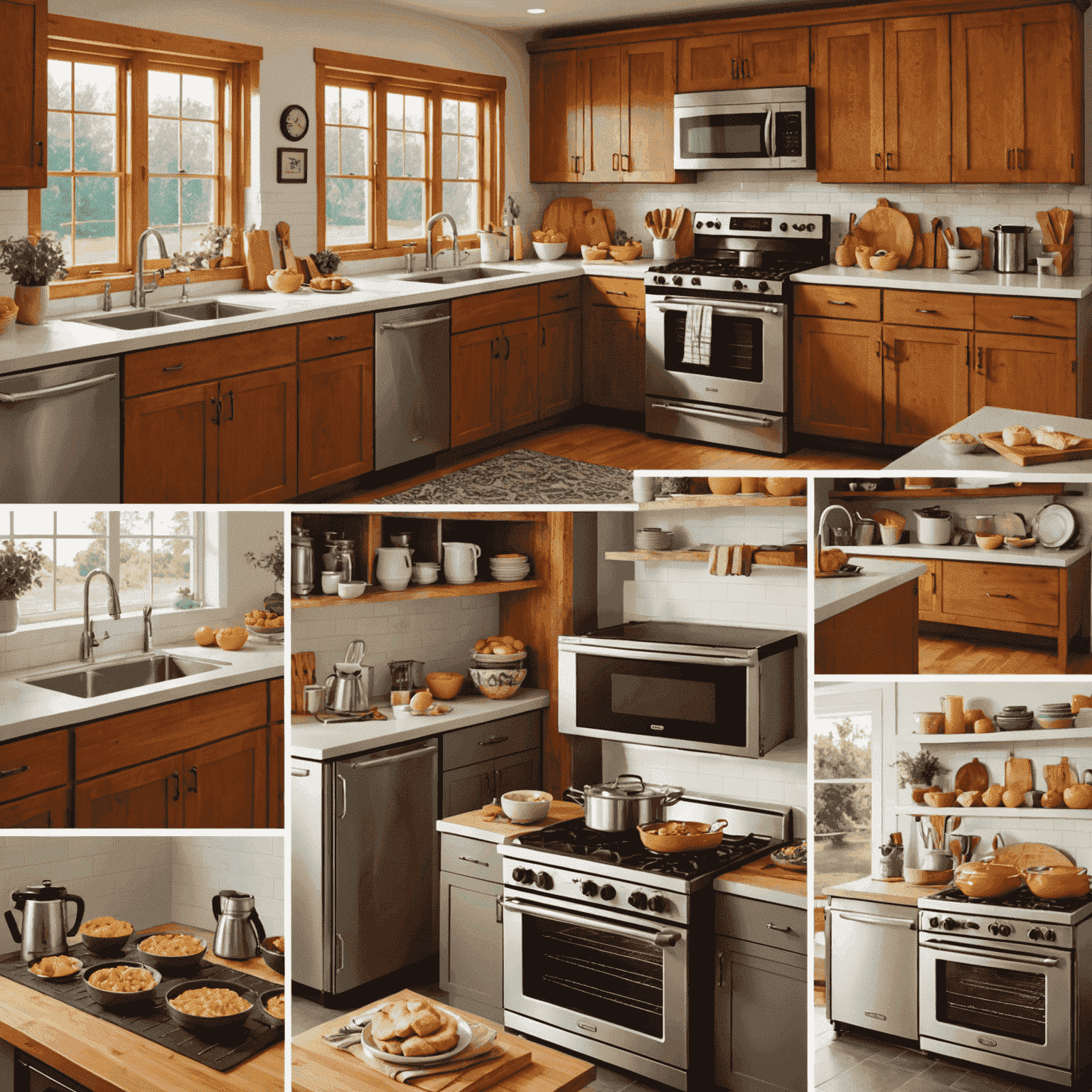
[[[141,933],[183,930],[204,937],[212,934],[171,922]],[[261,957],[246,962],[221,959],[210,950],[210,963],[245,971],[280,985],[284,978],[266,966]],[[278,1092],[284,1088],[284,1043],[236,1066],[229,1072],[191,1061],[165,1046],[134,1035],[35,993],[8,978],[0,978],[0,1038],[52,1066],[94,1092]]]

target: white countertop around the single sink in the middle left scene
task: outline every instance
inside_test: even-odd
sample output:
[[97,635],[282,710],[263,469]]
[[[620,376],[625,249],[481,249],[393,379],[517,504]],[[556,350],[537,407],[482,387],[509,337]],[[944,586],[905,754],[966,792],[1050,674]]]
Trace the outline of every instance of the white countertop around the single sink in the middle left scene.
[[[86,721],[97,721],[104,716],[117,716],[119,713],[131,713],[150,705],[159,705],[167,701],[178,701],[180,698],[192,698],[199,693],[210,693],[227,687],[242,686],[246,682],[258,682],[261,679],[278,678],[284,675],[284,645],[259,645],[257,641],[248,641],[238,652],[225,652],[213,645],[205,649],[195,643],[156,646],[154,652],[171,652],[192,660],[212,660],[225,664],[212,672],[200,675],[188,675],[185,678],[168,679],[166,682],[154,682],[150,686],[134,687],[121,690],[119,693],[104,695],[100,698],[74,698],[71,695],[58,693],[41,687],[31,686],[22,679],[57,675],[67,670],[85,669],[88,665],[78,661],[50,664],[48,667],[20,672],[9,672],[0,675],[0,743],[45,732],[49,728],[62,728],[69,724],[82,724]],[[140,653],[124,653],[116,656],[96,656],[99,666],[122,660],[133,660]]]

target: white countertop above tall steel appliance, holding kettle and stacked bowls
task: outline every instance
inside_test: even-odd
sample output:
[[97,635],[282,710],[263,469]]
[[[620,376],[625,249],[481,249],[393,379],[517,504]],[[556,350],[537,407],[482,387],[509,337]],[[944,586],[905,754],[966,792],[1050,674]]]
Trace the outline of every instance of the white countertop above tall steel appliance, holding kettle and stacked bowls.
[[546,709],[549,691],[522,688],[513,698],[502,701],[465,696],[442,704],[451,705],[451,712],[443,716],[395,716],[390,705],[380,705],[379,711],[387,716],[385,721],[360,721],[355,724],[320,724],[313,716],[296,714],[292,719],[289,753],[294,759],[329,762],[360,751],[397,747],[472,724]]

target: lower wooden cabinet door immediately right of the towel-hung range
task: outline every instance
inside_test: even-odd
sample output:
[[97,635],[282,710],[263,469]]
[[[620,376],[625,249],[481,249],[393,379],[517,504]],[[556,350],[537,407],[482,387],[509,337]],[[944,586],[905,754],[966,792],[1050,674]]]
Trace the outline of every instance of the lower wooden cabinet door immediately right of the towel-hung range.
[[800,432],[879,443],[883,435],[881,327],[796,319],[793,380]]

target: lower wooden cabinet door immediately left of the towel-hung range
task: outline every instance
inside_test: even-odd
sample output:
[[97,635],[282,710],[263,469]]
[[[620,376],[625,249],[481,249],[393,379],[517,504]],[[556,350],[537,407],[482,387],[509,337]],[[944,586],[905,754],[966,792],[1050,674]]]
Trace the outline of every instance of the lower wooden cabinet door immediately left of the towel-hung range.
[[612,410],[644,410],[644,312],[584,310],[584,401]]

